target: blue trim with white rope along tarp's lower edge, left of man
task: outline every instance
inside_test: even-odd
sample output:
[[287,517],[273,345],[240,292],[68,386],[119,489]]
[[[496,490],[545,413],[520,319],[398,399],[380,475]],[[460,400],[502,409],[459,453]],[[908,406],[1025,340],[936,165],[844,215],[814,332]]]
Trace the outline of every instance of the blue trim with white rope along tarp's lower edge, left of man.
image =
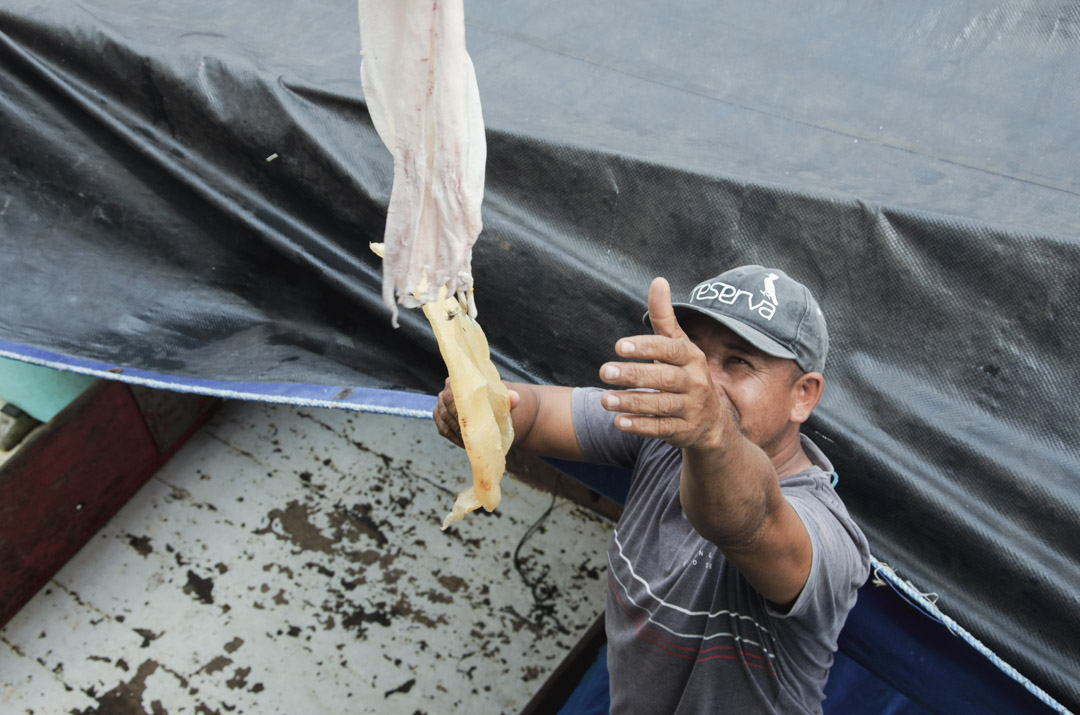
[[342,385],[303,385],[293,382],[233,382],[194,377],[164,375],[83,358],[73,358],[49,350],[0,339],[0,356],[19,360],[54,369],[91,375],[129,385],[141,385],[174,392],[206,394],[229,400],[252,400],[307,407],[337,407],[359,412],[431,419],[435,395],[381,390]]

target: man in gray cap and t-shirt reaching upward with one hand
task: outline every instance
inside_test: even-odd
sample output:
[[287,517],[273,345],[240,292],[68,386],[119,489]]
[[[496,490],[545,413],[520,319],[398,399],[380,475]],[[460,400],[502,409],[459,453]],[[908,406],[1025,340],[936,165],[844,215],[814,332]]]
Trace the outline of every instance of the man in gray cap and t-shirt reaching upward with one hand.
[[[868,575],[866,540],[799,426],[828,349],[810,292],[745,266],[622,338],[613,390],[512,386],[515,445],[633,468],[608,548],[612,712],[814,713]],[[630,360],[646,362],[626,362]],[[449,388],[434,417],[460,444]]]

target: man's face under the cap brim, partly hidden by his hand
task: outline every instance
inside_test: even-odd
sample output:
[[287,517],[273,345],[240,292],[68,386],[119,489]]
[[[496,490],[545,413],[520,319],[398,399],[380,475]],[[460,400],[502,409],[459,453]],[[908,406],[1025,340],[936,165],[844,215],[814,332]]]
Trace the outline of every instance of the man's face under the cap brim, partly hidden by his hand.
[[771,457],[789,429],[801,370],[794,361],[765,354],[704,315],[679,324],[705,353],[713,387],[732,410],[740,431]]

